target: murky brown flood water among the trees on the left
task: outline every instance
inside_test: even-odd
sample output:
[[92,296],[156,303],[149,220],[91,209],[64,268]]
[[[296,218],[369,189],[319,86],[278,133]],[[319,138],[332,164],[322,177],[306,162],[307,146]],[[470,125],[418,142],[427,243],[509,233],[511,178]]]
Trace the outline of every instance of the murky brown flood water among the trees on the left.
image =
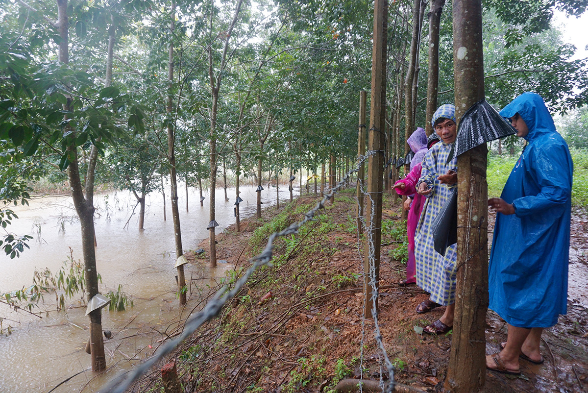
[[[199,242],[208,238],[208,193],[204,206],[196,189],[189,189],[189,212],[186,212],[185,188],[179,195],[182,243],[185,250],[196,249]],[[255,212],[256,187],[241,187],[242,217]],[[169,191],[166,191],[169,192]],[[295,195],[298,190],[295,189]],[[235,189],[228,189],[230,201],[225,202],[222,189],[216,191],[217,233],[235,222],[233,205]],[[89,370],[90,355],[84,351],[89,338],[89,319],[85,317],[79,297],[66,301],[66,311],[42,314],[38,318],[24,311],[14,311],[0,304],[3,334],[0,335],[0,392],[49,392],[65,379],[54,392],[93,392],[123,369],[128,369],[155,351],[164,333],[173,334],[178,319],[188,317],[198,304],[198,291],[193,290],[188,307],[179,308],[175,296],[175,244],[169,194],[166,195],[167,220],[163,221],[162,195],[153,192],[147,197],[145,230],[138,230],[138,207],[128,192],[112,192],[95,196],[96,207],[96,264],[102,276],[102,294],[116,291],[122,284],[130,295],[134,307],[126,311],[102,312],[102,328],[112,332],[105,339],[106,362],[109,370],[96,375]],[[276,189],[262,191],[263,206],[275,204]],[[280,186],[280,201],[289,200],[288,185]],[[79,221],[71,198],[68,196],[36,197],[29,207],[13,208],[19,219],[8,230],[14,234],[30,234],[31,249],[25,249],[20,258],[0,255],[0,294],[22,289],[32,284],[35,269],[49,268],[57,272],[73,250],[74,259],[82,259]],[[130,219],[129,219],[130,218]],[[128,225],[125,224],[128,222]],[[186,281],[205,286],[218,278],[232,265],[219,264],[209,269],[198,264],[185,266]],[[46,304],[40,311],[55,310],[55,296],[45,295]],[[12,334],[6,335],[8,327]],[[153,329],[155,328],[155,330]]]

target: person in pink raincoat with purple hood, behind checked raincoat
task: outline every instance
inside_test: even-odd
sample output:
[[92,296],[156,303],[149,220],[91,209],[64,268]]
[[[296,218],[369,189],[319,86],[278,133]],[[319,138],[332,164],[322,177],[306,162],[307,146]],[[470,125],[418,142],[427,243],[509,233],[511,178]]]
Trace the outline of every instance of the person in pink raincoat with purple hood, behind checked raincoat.
[[417,128],[415,132],[408,138],[410,149],[415,153],[415,156],[410,161],[410,172],[406,178],[400,179],[394,184],[394,188],[399,195],[407,195],[404,208],[408,210],[408,219],[406,223],[406,232],[408,235],[408,261],[406,262],[406,279],[400,279],[398,285],[406,287],[406,285],[416,284],[416,262],[415,262],[415,231],[419,223],[420,212],[423,209],[425,196],[416,192],[416,184],[420,178],[420,170],[422,168],[421,162],[427,152],[435,142],[439,141],[439,137],[435,132],[429,137],[425,130]]

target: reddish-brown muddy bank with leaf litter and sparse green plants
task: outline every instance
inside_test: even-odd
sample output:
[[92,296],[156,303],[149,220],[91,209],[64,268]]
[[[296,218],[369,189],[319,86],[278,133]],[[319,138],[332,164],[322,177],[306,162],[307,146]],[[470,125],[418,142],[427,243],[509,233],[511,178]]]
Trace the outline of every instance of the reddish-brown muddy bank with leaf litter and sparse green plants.
[[[288,207],[265,209],[260,220],[242,222],[217,236],[218,259],[239,269],[249,267],[267,235],[302,217],[318,196],[299,198]],[[342,378],[380,378],[374,324],[363,319],[363,245],[358,246],[356,201],[348,190],[328,204],[319,221],[309,222],[296,237],[277,242],[273,267],[258,271],[222,315],[185,342],[175,359],[186,392],[333,392]],[[384,198],[379,325],[396,368],[396,381],[428,392],[443,391],[451,334],[418,334],[443,314],[437,308],[417,314],[427,298],[419,288],[395,283],[405,267],[393,257],[400,203]],[[587,222],[574,208],[570,296],[567,315],[543,335],[543,365],[522,361],[522,376],[486,374],[487,392],[588,391]],[[272,221],[273,220],[273,221]],[[493,217],[490,217],[491,236]],[[208,241],[202,243],[206,249]],[[196,257],[206,264],[206,253]],[[229,275],[226,282],[232,282]],[[234,282],[234,280],[233,280]],[[498,352],[506,325],[488,311],[486,352]],[[363,369],[363,373],[361,372]],[[162,391],[154,371],[135,391]],[[150,390],[152,389],[152,390]]]

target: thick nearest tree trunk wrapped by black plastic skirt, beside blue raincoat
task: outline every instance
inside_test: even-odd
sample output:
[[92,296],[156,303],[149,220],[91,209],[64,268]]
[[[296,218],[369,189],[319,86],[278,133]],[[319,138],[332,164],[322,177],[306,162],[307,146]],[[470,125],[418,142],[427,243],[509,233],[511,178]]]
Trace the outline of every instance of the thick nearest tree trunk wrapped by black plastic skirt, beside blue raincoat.
[[[482,1],[453,1],[456,118],[484,98]],[[445,388],[480,391],[486,382],[488,245],[486,144],[457,157],[457,286]]]

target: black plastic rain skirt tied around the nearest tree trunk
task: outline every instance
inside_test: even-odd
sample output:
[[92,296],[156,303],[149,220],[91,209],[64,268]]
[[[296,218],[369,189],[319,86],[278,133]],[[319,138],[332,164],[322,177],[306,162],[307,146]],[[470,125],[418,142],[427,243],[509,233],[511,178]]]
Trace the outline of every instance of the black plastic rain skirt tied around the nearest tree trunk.
[[516,129],[482,99],[470,106],[460,119],[457,138],[447,162],[476,146],[513,134],[516,134]]

